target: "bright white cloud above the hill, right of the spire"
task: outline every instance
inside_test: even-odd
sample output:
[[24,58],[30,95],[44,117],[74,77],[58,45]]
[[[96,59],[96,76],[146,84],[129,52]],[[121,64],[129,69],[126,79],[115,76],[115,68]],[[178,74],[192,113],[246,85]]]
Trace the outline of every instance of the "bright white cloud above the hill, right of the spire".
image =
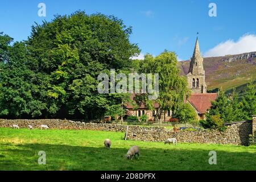
[[245,34],[237,42],[226,40],[204,53],[204,57],[236,55],[256,51],[256,35]]

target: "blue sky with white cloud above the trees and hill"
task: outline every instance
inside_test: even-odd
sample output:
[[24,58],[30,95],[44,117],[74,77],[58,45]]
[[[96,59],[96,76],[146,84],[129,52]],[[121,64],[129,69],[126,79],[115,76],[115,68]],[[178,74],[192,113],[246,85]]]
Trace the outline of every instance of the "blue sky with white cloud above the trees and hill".
[[[46,17],[38,16],[40,2],[46,4]],[[217,5],[217,17],[208,15],[212,2]],[[254,0],[1,0],[0,32],[15,41],[25,40],[34,22],[49,21],[55,14],[99,12],[115,15],[132,26],[130,41],[138,43],[142,55],[158,55],[168,49],[180,60],[187,60],[192,56],[197,32],[203,56],[256,51],[255,7]]]

